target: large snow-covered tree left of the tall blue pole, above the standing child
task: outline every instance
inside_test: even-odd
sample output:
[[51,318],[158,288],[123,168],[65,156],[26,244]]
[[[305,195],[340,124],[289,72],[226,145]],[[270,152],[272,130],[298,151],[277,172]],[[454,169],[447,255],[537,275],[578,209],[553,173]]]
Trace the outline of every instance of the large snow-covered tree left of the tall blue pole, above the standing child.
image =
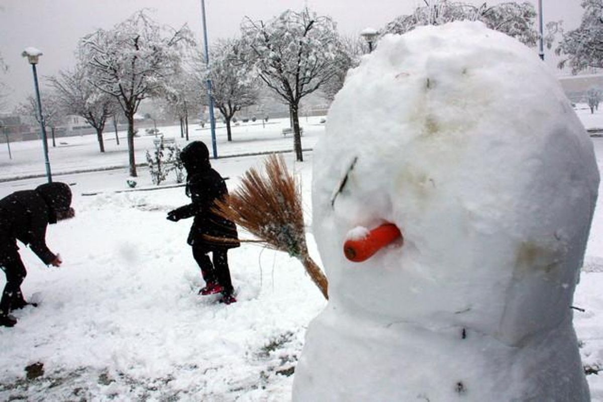
[[183,49],[192,43],[186,25],[178,30],[162,27],[145,10],[115,25],[85,36],[81,52],[89,64],[92,83],[114,96],[128,121],[130,175],[134,160],[134,113],[142,99],[165,91],[166,77],[180,66]]

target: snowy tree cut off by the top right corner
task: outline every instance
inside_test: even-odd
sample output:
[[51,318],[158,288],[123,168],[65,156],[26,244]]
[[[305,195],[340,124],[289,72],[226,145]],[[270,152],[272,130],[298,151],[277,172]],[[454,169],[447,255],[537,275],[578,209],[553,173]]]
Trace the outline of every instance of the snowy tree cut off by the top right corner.
[[565,58],[566,65],[576,74],[587,68],[603,68],[603,0],[583,0],[582,22],[575,30],[563,33],[555,52]]

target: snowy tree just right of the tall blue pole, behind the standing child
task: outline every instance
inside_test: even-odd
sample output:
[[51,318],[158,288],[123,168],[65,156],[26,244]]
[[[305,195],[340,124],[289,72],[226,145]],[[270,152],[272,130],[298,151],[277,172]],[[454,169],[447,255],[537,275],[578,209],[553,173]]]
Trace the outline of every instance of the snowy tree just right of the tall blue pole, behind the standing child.
[[[207,75],[212,80],[212,98],[224,122],[226,122],[227,139],[232,141],[230,122],[242,107],[256,104],[259,93],[259,82],[253,73],[253,66],[241,61],[239,40],[221,40],[209,53],[209,69],[202,77],[205,83]],[[200,71],[203,71],[203,67]]]

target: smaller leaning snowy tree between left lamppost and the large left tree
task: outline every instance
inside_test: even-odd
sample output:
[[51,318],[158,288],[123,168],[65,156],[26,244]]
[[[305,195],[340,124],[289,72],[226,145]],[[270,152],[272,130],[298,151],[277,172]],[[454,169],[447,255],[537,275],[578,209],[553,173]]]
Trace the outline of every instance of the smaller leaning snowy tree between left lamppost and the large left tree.
[[49,81],[65,114],[81,116],[95,128],[99,149],[104,152],[103,130],[113,115],[115,101],[113,96],[90,83],[88,69],[78,64],[72,71],[59,71]]

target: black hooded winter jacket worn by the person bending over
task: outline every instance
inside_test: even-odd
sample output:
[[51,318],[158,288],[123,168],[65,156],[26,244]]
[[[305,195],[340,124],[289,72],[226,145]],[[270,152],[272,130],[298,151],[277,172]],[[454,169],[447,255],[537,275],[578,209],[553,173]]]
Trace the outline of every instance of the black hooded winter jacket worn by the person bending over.
[[46,265],[51,263],[56,256],[46,246],[46,227],[57,222],[57,212],[68,210],[70,205],[69,186],[58,182],[0,199],[0,260],[19,250],[19,239]]

